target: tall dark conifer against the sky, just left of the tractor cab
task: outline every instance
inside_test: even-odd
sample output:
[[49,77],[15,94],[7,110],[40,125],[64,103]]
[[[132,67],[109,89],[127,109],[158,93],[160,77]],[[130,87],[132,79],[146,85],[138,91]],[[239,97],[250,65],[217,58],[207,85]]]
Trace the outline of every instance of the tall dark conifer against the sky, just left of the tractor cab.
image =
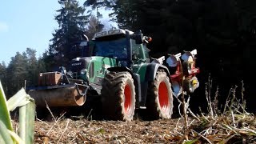
[[[88,22],[87,16],[84,15],[85,9],[79,6],[78,1],[59,0],[58,3],[62,6],[55,16],[58,29],[54,30],[49,50],[43,55],[50,68],[66,66],[70,59],[76,58],[76,55],[70,54],[70,50],[74,43],[82,40]],[[48,67],[48,70],[50,68]]]

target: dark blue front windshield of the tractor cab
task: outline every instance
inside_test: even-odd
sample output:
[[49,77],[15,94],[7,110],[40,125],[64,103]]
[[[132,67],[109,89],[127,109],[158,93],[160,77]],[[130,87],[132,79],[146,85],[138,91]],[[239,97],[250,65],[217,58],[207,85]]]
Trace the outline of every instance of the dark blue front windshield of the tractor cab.
[[124,59],[127,53],[126,38],[94,42],[94,56]]

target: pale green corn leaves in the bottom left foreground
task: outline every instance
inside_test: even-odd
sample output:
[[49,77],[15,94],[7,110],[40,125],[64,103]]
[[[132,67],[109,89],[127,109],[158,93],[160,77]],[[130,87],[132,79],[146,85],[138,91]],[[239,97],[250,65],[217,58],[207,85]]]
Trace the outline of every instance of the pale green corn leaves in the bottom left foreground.
[[[19,134],[14,132],[10,111],[19,107]],[[22,88],[8,101],[0,82],[0,143],[34,142],[34,99]]]

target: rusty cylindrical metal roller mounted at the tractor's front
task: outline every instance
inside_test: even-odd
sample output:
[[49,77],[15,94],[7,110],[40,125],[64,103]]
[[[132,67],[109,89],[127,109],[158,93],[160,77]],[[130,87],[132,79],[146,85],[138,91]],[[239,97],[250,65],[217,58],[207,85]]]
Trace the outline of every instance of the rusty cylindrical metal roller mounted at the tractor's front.
[[28,94],[37,106],[82,106],[86,102],[86,94],[77,86],[61,87],[46,90],[30,90]]

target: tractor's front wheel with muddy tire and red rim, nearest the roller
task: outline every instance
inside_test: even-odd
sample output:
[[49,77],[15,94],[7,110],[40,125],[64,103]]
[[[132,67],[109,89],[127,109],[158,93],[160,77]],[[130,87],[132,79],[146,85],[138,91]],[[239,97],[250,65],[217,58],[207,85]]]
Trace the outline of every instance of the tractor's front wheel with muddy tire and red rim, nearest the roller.
[[102,82],[102,112],[107,119],[132,121],[135,110],[134,80],[129,72],[110,72]]

